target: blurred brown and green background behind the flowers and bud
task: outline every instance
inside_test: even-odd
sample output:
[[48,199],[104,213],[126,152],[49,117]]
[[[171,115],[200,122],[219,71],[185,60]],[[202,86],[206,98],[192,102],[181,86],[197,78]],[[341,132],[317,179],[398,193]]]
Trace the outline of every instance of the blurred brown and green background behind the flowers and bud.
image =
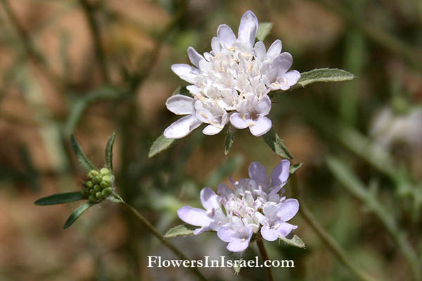
[[[236,32],[252,10],[274,22],[264,42],[283,42],[293,69],[338,67],[357,76],[286,93],[271,119],[294,162],[303,204],[376,280],[414,276],[397,244],[365,200],[327,166],[337,157],[385,208],[421,266],[422,4],[420,1],[0,1],[0,280],[194,280],[180,268],[146,268],[146,256],[172,254],[111,203],[36,207],[39,197],[80,188],[84,171],[70,150],[75,133],[92,162],[116,131],[117,188],[162,233],[180,223],[176,210],[199,206],[200,188],[270,170],[279,159],[260,138],[238,131],[229,157],[224,133],[200,130],[148,159],[151,143],[175,117],[165,100],[184,85],[170,70],[186,48],[210,50],[219,24]],[[336,162],[337,163],[337,162]],[[342,181],[343,178],[343,181]],[[372,193],[371,193],[372,194]],[[291,196],[288,190],[288,196]],[[293,223],[307,249],[267,244],[281,280],[355,280],[305,221]],[[215,234],[172,240],[191,258],[229,255]],[[255,248],[245,256],[257,255]],[[208,270],[207,270],[208,269]],[[204,270],[210,280],[262,280],[264,270]]]

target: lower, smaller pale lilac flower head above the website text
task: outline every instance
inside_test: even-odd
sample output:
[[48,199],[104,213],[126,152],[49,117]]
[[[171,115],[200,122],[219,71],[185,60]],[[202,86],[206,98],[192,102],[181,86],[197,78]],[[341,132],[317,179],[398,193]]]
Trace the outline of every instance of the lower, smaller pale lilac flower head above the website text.
[[200,192],[205,210],[185,206],[177,214],[182,221],[199,227],[194,234],[217,231],[218,237],[229,243],[229,251],[244,251],[254,234],[268,241],[286,237],[298,228],[286,221],[299,210],[298,200],[280,195],[288,180],[289,168],[290,162],[282,160],[268,177],[260,162],[252,162],[250,178],[231,180],[231,187],[221,183],[218,195],[210,188]]

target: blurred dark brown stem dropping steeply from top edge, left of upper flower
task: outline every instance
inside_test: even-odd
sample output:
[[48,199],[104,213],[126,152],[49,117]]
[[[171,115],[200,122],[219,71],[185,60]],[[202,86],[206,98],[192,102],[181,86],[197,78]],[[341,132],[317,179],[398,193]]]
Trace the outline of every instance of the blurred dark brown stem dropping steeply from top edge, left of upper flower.
[[104,53],[103,45],[101,44],[101,34],[96,19],[94,17],[94,7],[89,4],[88,0],[80,0],[79,3],[84,10],[85,17],[87,18],[89,30],[94,41],[95,55],[97,63],[100,66],[101,76],[104,81],[110,81],[110,73],[107,67],[106,55]]

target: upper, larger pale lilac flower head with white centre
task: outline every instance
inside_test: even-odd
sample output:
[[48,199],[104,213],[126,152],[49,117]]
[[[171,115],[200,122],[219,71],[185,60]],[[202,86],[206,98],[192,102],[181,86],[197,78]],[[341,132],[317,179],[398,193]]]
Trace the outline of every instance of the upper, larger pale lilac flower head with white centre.
[[[215,135],[227,123],[238,129],[249,128],[254,136],[271,129],[266,117],[271,110],[268,93],[288,90],[296,84],[300,73],[290,70],[293,58],[281,53],[281,41],[276,40],[266,50],[255,37],[258,20],[252,11],[241,18],[238,36],[228,25],[220,25],[212,38],[212,51],[200,55],[188,48],[192,65],[175,64],[172,70],[187,86],[193,98],[182,95],[170,97],[167,109],[177,115],[187,115],[171,124],[164,132],[166,138],[183,138],[202,123],[206,135]],[[186,107],[186,108],[185,108]]]

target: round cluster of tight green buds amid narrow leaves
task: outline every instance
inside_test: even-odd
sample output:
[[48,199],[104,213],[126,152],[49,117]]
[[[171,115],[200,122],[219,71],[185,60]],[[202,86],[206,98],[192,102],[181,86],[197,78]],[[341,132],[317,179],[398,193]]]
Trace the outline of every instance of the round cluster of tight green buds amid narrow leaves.
[[91,202],[99,202],[113,192],[113,174],[107,168],[100,171],[91,170],[88,173],[89,180],[84,182],[82,195]]

